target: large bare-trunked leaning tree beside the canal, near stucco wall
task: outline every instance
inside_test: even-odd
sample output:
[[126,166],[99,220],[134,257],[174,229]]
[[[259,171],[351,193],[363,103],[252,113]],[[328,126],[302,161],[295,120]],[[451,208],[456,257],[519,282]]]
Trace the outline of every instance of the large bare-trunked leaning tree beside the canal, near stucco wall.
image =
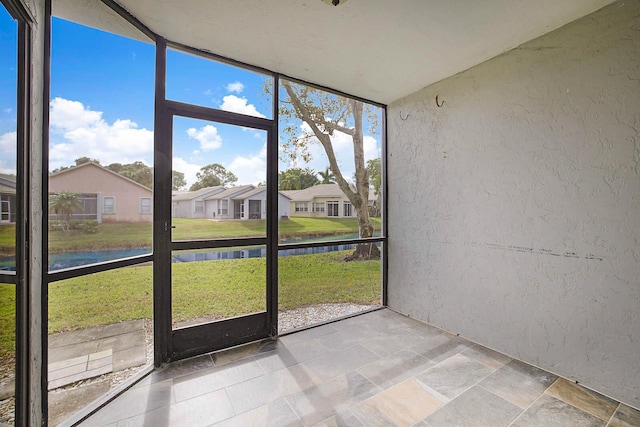
[[[361,238],[373,237],[373,225],[369,218],[369,173],[364,161],[364,114],[367,109],[362,101],[330,94],[298,83],[281,80],[286,97],[282,100],[280,115],[289,122],[284,131],[289,138],[284,144],[285,154],[292,160],[302,157],[311,159],[309,144],[317,141],[324,148],[329,160],[329,168],[340,190],[347,196],[358,217],[358,230]],[[375,114],[367,111],[375,125]],[[300,136],[298,120],[303,121],[310,131]],[[374,126],[372,125],[372,127]],[[338,165],[331,137],[341,132],[351,137],[355,166],[355,186],[345,179]],[[379,258],[380,251],[373,243],[359,244],[346,260]]]

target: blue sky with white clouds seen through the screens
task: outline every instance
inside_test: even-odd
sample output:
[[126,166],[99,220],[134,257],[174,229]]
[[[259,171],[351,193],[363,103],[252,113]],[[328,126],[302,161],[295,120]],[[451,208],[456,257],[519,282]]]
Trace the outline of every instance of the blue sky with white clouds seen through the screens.
[[[0,173],[15,173],[15,31],[0,7]],[[58,18],[52,24],[49,170],[74,164],[79,157],[102,165],[142,161],[153,165],[155,47]],[[209,108],[273,118],[269,76],[183,52],[167,54],[167,98]],[[190,186],[196,173],[220,163],[237,184],[266,179],[266,133],[174,117],[173,169]],[[308,129],[302,123],[300,132]],[[365,157],[379,157],[380,134],[365,136]],[[342,173],[353,176],[351,139],[333,138]],[[291,166],[324,171],[319,144],[312,160]]]

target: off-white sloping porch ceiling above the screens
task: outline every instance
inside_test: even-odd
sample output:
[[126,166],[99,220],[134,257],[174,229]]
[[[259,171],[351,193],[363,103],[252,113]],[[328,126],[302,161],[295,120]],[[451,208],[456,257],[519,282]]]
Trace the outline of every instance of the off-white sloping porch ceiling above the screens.
[[[166,39],[388,104],[613,0],[116,0]],[[98,0],[53,13],[135,36]]]

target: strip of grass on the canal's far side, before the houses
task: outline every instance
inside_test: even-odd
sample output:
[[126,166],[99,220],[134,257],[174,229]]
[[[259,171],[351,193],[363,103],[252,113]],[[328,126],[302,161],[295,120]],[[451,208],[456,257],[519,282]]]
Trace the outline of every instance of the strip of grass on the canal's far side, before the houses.
[[[376,230],[380,229],[380,219],[372,218]],[[264,220],[211,221],[208,219],[174,218],[174,240],[209,239],[228,237],[255,237],[266,234]],[[352,234],[358,232],[355,218],[300,218],[279,221],[281,238],[304,238]],[[86,234],[81,230],[49,231],[51,252],[128,249],[151,247],[152,224],[150,223],[103,223],[96,234]],[[15,225],[0,225],[0,256],[15,252]]]

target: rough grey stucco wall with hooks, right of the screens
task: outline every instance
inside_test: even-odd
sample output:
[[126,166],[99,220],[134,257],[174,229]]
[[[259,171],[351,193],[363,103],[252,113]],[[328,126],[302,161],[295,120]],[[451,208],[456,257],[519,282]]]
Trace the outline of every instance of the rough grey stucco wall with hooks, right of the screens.
[[639,1],[390,105],[389,306],[640,407],[639,132]]

